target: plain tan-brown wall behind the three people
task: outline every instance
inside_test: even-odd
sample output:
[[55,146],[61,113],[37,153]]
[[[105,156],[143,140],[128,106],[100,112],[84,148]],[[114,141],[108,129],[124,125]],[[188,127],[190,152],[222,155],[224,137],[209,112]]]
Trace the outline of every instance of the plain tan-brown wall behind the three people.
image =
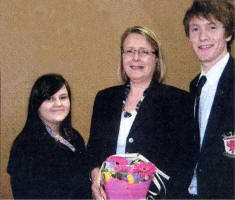
[[0,0],[1,196],[12,198],[6,167],[35,79],[61,73],[73,95],[73,125],[85,141],[98,90],[119,84],[119,43],[132,25],[162,41],[166,83],[188,90],[199,63],[184,35],[191,0]]

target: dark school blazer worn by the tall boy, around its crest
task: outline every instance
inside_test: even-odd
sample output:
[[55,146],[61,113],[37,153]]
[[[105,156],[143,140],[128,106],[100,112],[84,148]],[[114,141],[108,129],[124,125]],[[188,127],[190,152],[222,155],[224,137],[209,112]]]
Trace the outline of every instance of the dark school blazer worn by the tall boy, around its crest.
[[[195,96],[199,75],[191,82]],[[211,108],[201,152],[196,132],[196,162],[200,198],[234,199],[234,158],[224,155],[223,134],[234,133],[234,59],[229,61],[220,77]]]

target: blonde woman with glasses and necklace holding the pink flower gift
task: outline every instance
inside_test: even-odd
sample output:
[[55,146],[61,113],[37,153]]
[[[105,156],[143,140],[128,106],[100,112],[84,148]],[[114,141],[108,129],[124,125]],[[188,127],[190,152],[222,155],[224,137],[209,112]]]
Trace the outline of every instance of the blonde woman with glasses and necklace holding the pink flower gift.
[[169,175],[167,198],[181,198],[190,181],[191,98],[162,84],[165,68],[159,41],[146,27],[128,28],[121,38],[123,85],[96,95],[88,155],[92,193],[106,198],[97,185],[102,162],[112,154],[140,153]]

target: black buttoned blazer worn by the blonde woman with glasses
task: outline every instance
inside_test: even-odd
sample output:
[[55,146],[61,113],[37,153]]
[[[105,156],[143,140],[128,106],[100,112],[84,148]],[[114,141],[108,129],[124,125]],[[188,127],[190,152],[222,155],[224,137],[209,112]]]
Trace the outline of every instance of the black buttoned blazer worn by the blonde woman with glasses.
[[[124,90],[123,85],[111,87],[95,98],[87,146],[91,169],[116,152]],[[185,174],[192,164],[190,103],[187,92],[153,82],[127,137],[126,152],[144,155],[171,176],[170,183],[180,179],[181,184],[167,188],[169,194],[173,188],[182,194],[188,181]]]

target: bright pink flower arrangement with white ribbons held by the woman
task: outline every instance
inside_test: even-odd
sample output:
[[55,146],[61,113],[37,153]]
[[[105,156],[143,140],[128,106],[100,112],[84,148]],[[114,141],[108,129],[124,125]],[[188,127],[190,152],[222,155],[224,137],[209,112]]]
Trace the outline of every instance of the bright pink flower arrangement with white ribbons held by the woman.
[[[158,195],[162,186],[166,194],[166,188],[160,175],[169,180],[169,176],[141,154],[117,154],[109,156],[103,162],[98,184],[100,186],[102,178],[109,200],[145,199],[148,192]],[[152,181],[159,193],[149,191]]]

